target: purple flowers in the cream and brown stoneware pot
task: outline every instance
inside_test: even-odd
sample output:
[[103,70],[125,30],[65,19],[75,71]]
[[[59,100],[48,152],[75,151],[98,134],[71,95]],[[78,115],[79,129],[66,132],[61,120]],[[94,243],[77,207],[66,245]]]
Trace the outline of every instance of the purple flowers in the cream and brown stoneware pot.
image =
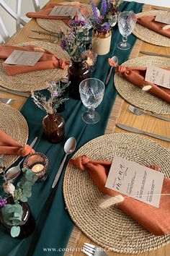
[[99,11],[93,0],[90,0],[93,15],[90,20],[94,27],[94,33],[108,34],[112,25],[117,22],[117,8],[122,0],[102,0],[102,7]]

